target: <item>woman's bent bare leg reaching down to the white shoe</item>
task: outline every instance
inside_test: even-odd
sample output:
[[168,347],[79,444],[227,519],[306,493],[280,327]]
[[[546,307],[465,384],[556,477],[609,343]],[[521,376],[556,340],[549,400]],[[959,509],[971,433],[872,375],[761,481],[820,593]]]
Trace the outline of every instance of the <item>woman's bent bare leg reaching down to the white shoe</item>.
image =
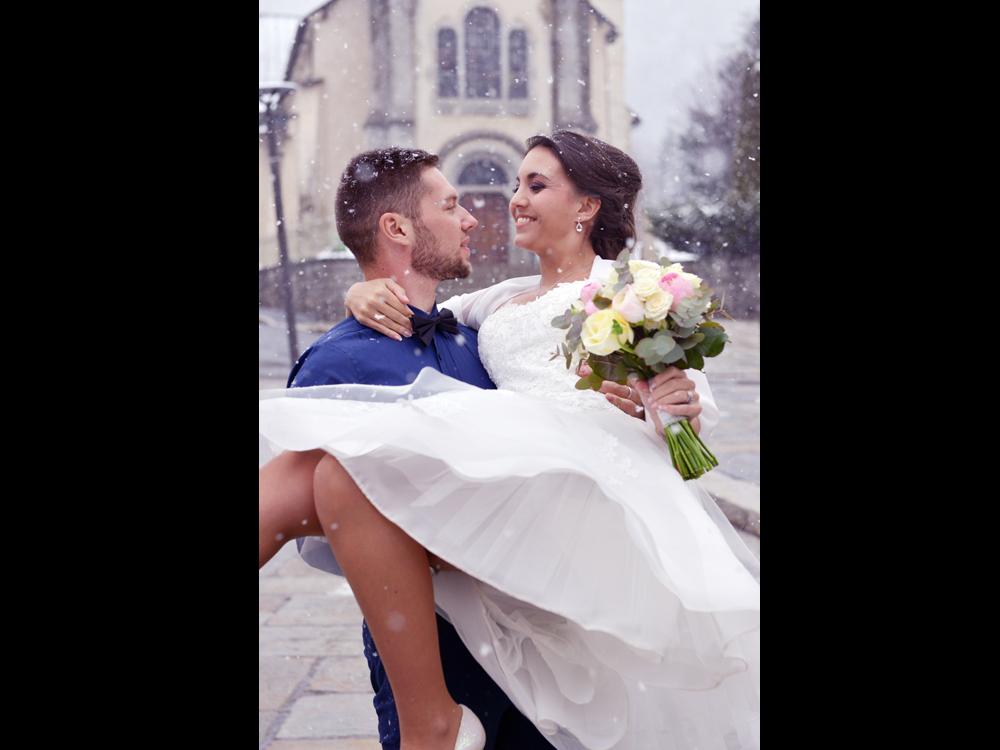
[[462,711],[441,668],[427,551],[379,513],[332,456],[316,469],[314,494],[389,676],[401,750],[453,750]]

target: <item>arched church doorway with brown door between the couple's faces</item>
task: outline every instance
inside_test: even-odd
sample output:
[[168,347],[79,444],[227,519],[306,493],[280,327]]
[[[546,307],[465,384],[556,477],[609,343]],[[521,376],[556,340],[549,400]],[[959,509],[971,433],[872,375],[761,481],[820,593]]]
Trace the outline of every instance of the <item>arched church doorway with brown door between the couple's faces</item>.
[[507,171],[490,157],[467,162],[459,175],[459,203],[479,221],[469,243],[474,266],[510,262],[509,185]]

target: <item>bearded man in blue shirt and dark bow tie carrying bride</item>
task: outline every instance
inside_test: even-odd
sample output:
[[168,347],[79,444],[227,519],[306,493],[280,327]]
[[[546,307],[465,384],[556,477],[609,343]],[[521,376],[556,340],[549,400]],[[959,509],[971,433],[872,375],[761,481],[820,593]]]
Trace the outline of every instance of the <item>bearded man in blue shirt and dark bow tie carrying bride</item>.
[[[480,388],[496,388],[479,361],[477,332],[459,325],[447,310],[441,315],[435,302],[440,282],[472,273],[469,232],[478,226],[437,165],[438,157],[424,151],[371,151],[351,161],[337,192],[341,240],[366,279],[391,278],[405,290],[416,335],[396,341],[348,318],[302,355],[289,388],[409,385],[425,367]],[[339,572],[328,546],[310,549],[308,541],[300,541],[299,547],[310,565]],[[482,720],[487,750],[551,750],[441,617],[438,633],[448,690]],[[363,636],[379,739],[384,750],[398,750],[395,701],[367,624]]]

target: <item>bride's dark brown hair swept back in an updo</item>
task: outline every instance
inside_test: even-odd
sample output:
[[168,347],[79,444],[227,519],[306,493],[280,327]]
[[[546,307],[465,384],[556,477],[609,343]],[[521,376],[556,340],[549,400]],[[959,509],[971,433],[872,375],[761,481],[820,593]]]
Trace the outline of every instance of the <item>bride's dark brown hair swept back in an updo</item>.
[[614,260],[637,239],[636,202],[642,190],[639,165],[621,149],[571,130],[536,135],[527,142],[528,151],[544,146],[563,165],[566,174],[584,195],[601,201],[594,217],[590,239],[594,251]]

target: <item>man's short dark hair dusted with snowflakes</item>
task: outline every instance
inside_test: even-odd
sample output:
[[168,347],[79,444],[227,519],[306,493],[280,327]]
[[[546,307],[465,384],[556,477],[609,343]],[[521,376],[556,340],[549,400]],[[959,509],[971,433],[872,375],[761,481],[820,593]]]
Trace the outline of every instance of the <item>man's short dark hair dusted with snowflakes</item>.
[[366,151],[351,159],[337,190],[337,233],[362,268],[375,261],[378,223],[387,213],[419,218],[425,169],[434,154],[412,148]]

